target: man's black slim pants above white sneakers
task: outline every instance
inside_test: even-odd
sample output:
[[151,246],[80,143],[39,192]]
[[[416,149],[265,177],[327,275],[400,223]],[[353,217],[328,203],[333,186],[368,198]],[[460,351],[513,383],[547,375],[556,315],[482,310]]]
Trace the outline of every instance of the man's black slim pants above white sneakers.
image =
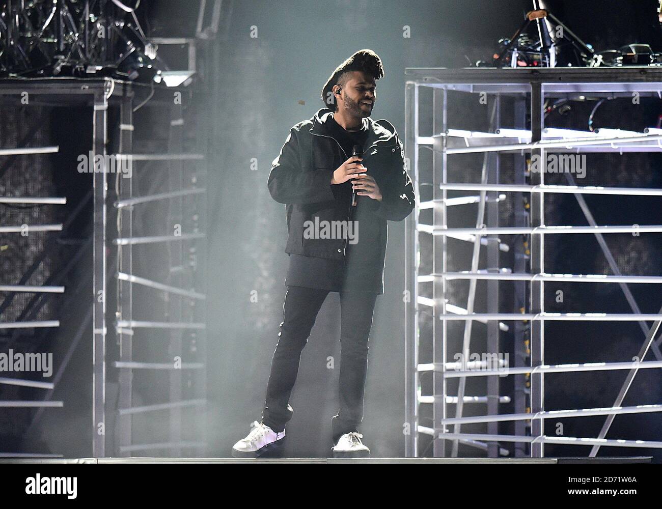
[[[267,399],[262,422],[281,432],[292,418],[288,404],[297,380],[301,351],[308,342],[328,290],[288,286],[283,303],[283,322],[271,360]],[[363,420],[363,389],[367,371],[368,336],[376,293],[340,292],[340,410],[332,420],[334,443],[357,431]]]

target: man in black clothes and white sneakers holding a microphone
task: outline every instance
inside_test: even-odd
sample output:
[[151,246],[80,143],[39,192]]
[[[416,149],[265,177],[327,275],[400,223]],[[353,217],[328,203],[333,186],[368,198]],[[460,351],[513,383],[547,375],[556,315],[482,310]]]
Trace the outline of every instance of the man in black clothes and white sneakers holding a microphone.
[[[415,203],[395,128],[369,116],[377,99],[375,80],[383,75],[371,50],[340,64],[322,89],[322,101],[333,111],[320,109],[293,126],[271,165],[269,192],[287,206],[287,291],[262,420],[234,444],[236,457],[264,455],[283,443],[301,351],[330,291],[340,293],[341,310],[334,457],[369,456],[358,425],[368,336],[375,300],[383,294],[387,220],[403,220]],[[361,156],[352,156],[355,145]]]

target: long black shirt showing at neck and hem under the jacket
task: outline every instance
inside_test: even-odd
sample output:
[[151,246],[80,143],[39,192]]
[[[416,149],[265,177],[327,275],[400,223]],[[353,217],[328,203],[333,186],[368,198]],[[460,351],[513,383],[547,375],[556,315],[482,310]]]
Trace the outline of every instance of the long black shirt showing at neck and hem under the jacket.
[[[328,122],[332,136],[340,143],[347,156],[345,160],[352,156],[354,145],[361,146],[361,152],[363,152],[368,136],[366,124],[363,124],[362,128],[357,131],[348,131],[340,126],[334,118],[330,118]],[[351,181],[340,185],[352,188]],[[371,199],[369,197],[361,198]],[[365,238],[363,244],[361,244],[362,233]],[[371,233],[374,232],[361,232],[361,228],[359,228],[359,242],[348,244],[344,260],[290,254],[285,285],[329,291],[365,291],[383,294],[384,269],[381,259],[379,259],[379,245],[370,242]]]

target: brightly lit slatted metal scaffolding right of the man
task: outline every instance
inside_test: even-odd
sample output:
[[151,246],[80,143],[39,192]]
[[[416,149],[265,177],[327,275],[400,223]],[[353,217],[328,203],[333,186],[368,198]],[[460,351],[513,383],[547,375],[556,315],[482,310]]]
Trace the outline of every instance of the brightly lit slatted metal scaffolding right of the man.
[[[547,154],[585,154],[587,152],[660,152],[662,130],[647,128],[643,132],[620,129],[580,131],[545,126],[545,100],[549,98],[659,97],[662,69],[659,68],[563,68],[563,69],[442,69],[408,68],[406,81],[406,154],[410,175],[420,203],[406,220],[406,291],[405,363],[406,363],[406,433],[408,457],[426,455],[420,451],[420,435],[432,437],[433,455],[457,457],[458,445],[469,445],[487,452],[489,457],[507,454],[498,447],[500,441],[514,442],[515,455],[545,456],[545,443],[591,445],[591,456],[600,446],[662,447],[662,441],[606,440],[614,416],[618,414],[659,412],[662,405],[622,406],[632,379],[639,369],[662,367],[662,353],[655,336],[660,328],[662,309],[657,314],[641,313],[628,285],[662,283],[655,275],[622,275],[603,234],[662,232],[662,225],[598,225],[584,195],[662,196],[662,189],[626,187],[581,187],[571,173],[565,173],[568,185],[546,185],[545,171],[530,171],[525,156],[546,161]],[[457,129],[449,122],[449,94],[487,99],[491,111],[487,130]],[[430,100],[431,98],[431,100]],[[427,101],[426,101],[427,99]],[[504,107],[505,99],[512,105]],[[431,105],[428,105],[431,102]],[[502,118],[508,115],[504,127]],[[422,126],[422,116],[431,118]],[[422,162],[422,148],[432,152],[430,163]],[[449,181],[449,158],[455,154],[483,154],[479,183]],[[510,154],[514,160],[514,181],[500,181],[500,156]],[[529,171],[528,171],[529,170]],[[454,176],[457,179],[456,176]],[[528,182],[526,179],[528,178]],[[448,191],[476,193],[449,197]],[[499,226],[499,207],[504,193],[517,193],[512,224]],[[590,226],[546,226],[545,194],[571,193]],[[475,228],[449,225],[449,207],[475,204]],[[431,209],[431,213],[427,213]],[[463,209],[465,210],[465,209]],[[467,208],[466,210],[469,210]],[[426,212],[425,219],[422,213]],[[545,271],[546,235],[571,234],[595,236],[612,274],[554,274]],[[499,236],[508,236],[504,240]],[[473,244],[471,263],[464,270],[449,270],[449,239]],[[521,242],[520,242],[521,240]],[[485,267],[479,267],[481,248]],[[501,267],[500,252],[513,252],[512,267]],[[427,267],[422,271],[422,267]],[[468,283],[466,302],[451,302],[449,281]],[[487,312],[475,312],[477,281],[486,281],[484,297]],[[498,283],[514,285],[514,312],[499,312]],[[630,313],[548,312],[545,310],[545,282],[618,284],[631,308]],[[528,289],[528,290],[527,290]],[[545,364],[545,322],[549,321],[636,321],[643,332],[637,362],[587,363],[572,365]],[[463,324],[463,332],[453,334],[449,324]],[[487,326],[485,361],[466,362],[472,348],[472,324]],[[649,326],[647,322],[653,322]],[[515,353],[514,367],[498,359],[500,333],[512,330]],[[459,336],[459,337],[458,337]],[[449,344],[459,345],[449,350]],[[657,361],[643,362],[649,349]],[[452,362],[454,353],[464,362]],[[421,357],[429,362],[421,362]],[[493,362],[496,359],[496,362]],[[628,376],[618,397],[607,408],[574,408],[545,410],[545,373],[578,373],[585,371],[627,370]],[[422,377],[431,377],[430,381]],[[499,377],[514,377],[514,394],[500,394]],[[471,377],[487,377],[487,394],[465,395],[465,383]],[[448,381],[457,379],[457,394],[450,394]],[[425,391],[424,387],[429,389]],[[502,390],[502,389],[501,389]],[[515,412],[501,414],[500,404],[514,402]],[[479,416],[463,416],[464,404],[485,405]],[[421,422],[422,405],[432,406],[432,426]],[[449,406],[455,407],[454,416]],[[475,405],[474,405],[475,406]],[[481,406],[481,408],[483,408]],[[426,409],[427,411],[428,409]],[[597,438],[545,436],[545,418],[606,416]],[[514,423],[514,434],[498,434],[497,423]],[[486,433],[463,433],[462,424],[483,423]],[[530,423],[530,431],[526,424]],[[449,427],[453,424],[452,430]],[[446,444],[450,441],[448,451]],[[529,449],[526,449],[526,444]]]

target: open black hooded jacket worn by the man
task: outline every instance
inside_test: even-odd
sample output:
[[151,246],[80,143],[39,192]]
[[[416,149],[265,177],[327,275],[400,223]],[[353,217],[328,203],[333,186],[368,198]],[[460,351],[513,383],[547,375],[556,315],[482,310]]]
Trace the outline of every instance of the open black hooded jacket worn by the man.
[[[368,136],[363,146],[363,165],[383,196],[381,202],[367,196],[357,197],[351,206],[352,183],[332,185],[333,172],[352,154],[345,154],[340,143],[330,135],[331,111],[320,109],[309,120],[293,126],[269,173],[269,193],[278,203],[287,205],[286,253],[344,259],[348,239],[304,238],[306,221],[359,222],[358,237],[379,242],[384,266],[388,238],[387,220],[401,221],[414,208],[414,187],[406,172],[404,148],[393,125],[387,120],[367,122]],[[354,209],[354,210],[351,210]],[[361,234],[363,232],[363,235]]]

